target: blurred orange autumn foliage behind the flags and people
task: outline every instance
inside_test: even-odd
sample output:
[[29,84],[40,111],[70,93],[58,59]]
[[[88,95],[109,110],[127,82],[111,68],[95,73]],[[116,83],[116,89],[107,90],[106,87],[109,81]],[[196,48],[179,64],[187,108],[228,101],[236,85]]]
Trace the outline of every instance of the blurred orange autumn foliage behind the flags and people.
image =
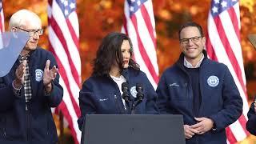
[[[11,14],[20,9],[34,11],[42,18],[45,33],[39,46],[48,49],[47,30],[47,0],[6,0],[2,1],[5,26],[7,30]],[[210,0],[154,0],[154,18],[157,33],[157,57],[159,74],[174,64],[180,49],[178,28],[187,21],[198,22],[206,33]],[[90,62],[95,56],[102,38],[112,32],[120,31],[123,21],[123,0],[77,0],[77,14],[80,28],[79,53],[82,62],[82,82],[90,76]],[[240,1],[241,14],[241,44],[246,72],[249,103],[256,95],[256,51],[250,44],[247,35],[256,34],[256,1]],[[58,116],[54,116],[59,126]],[[70,130],[64,129],[62,143],[74,143]],[[250,136],[239,143],[256,143],[256,138]]]

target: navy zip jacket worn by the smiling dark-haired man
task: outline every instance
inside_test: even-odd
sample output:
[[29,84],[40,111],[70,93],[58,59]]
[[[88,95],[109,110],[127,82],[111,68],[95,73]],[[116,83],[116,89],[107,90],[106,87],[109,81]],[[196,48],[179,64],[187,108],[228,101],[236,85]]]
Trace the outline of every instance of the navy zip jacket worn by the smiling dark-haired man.
[[[199,68],[199,87],[202,95],[198,117],[211,118],[216,130],[194,135],[186,143],[226,143],[226,126],[242,114],[242,98],[234,80],[224,64],[205,58]],[[182,114],[184,125],[194,125],[193,90],[184,68],[184,54],[168,68],[158,83],[158,108],[161,114]]]

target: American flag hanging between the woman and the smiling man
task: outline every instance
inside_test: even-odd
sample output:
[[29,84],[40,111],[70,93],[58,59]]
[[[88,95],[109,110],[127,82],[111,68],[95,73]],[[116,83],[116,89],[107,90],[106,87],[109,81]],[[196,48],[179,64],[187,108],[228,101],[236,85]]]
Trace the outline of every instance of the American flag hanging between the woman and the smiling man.
[[156,89],[158,61],[152,1],[126,0],[124,14],[122,32],[130,37],[134,48],[134,59]]

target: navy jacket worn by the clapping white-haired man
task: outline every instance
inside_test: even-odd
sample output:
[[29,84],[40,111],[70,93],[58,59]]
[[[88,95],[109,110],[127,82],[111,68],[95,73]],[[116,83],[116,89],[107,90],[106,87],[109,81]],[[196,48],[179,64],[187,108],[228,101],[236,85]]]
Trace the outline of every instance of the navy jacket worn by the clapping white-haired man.
[[25,110],[26,102],[24,88],[21,96],[14,94],[12,82],[19,62],[15,62],[10,73],[0,78],[0,143],[3,144],[45,144],[58,141],[56,126],[51,114],[51,107],[56,107],[62,101],[63,90],[58,84],[59,75],[52,82],[53,91],[45,94],[42,74],[36,71],[44,70],[46,60],[50,60],[50,69],[57,66],[53,54],[37,48],[30,53],[29,68],[32,87],[32,99]]

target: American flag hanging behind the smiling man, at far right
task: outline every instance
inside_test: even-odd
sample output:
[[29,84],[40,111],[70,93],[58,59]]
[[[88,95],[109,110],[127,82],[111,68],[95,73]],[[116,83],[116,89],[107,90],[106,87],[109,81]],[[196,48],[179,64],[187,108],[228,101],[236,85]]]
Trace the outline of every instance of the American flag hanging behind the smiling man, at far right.
[[242,116],[226,128],[227,142],[229,143],[242,141],[248,135],[246,114],[249,106],[240,44],[240,28],[238,0],[213,0],[211,2],[206,50],[211,59],[228,66],[243,100]]

